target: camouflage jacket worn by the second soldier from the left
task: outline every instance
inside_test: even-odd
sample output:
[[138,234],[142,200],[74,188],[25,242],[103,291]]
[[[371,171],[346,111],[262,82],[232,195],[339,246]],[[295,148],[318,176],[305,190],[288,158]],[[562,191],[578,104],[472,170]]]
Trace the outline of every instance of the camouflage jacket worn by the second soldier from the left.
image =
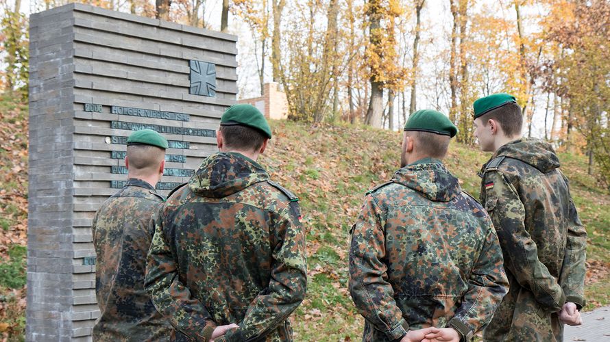
[[292,194],[239,153],[206,158],[151,223],[146,288],[183,335],[208,341],[291,341],[306,291],[305,237]]

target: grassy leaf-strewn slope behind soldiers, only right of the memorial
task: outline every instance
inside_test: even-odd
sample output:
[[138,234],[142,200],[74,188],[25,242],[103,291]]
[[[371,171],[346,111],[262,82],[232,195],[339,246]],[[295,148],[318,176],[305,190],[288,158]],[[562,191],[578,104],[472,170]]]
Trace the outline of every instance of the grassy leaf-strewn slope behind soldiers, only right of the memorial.
[[[399,168],[402,135],[363,127],[271,124],[274,137],[260,161],[273,179],[301,198],[307,231],[308,295],[293,317],[296,340],[356,340],[363,319],[346,291],[348,231],[367,189],[389,180]],[[478,148],[452,143],[446,165],[463,189],[478,197],[476,172],[488,158]],[[587,309],[607,305],[610,196],[587,175],[584,157],[560,158],[589,233]]]

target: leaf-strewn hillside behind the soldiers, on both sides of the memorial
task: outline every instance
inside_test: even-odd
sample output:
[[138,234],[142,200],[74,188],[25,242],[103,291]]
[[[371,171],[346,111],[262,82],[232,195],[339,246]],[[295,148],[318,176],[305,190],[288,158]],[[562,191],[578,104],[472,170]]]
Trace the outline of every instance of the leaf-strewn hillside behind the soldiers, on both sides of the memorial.
[[[307,232],[309,285],[293,315],[296,341],[359,339],[363,319],[347,294],[348,231],[365,192],[399,167],[402,134],[359,126],[271,122],[273,139],[260,159],[301,199]],[[0,340],[19,339],[25,325],[27,107],[0,98]],[[452,144],[446,164],[478,196],[476,172],[489,156]],[[572,194],[589,233],[587,309],[610,302],[610,195],[587,175],[585,158],[561,154]],[[12,341],[12,338],[10,339]]]

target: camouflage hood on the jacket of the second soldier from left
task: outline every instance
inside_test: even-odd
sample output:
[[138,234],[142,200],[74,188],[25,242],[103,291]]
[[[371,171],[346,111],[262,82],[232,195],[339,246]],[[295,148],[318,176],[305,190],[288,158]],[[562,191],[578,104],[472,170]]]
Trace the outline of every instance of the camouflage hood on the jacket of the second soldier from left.
[[240,153],[215,153],[204,159],[188,187],[199,196],[223,198],[268,179],[262,166]]

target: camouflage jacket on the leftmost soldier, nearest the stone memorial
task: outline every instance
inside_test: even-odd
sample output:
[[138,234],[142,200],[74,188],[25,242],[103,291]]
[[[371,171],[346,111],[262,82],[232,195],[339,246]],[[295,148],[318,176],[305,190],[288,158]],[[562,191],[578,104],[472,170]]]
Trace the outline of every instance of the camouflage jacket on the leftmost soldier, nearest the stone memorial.
[[144,289],[154,233],[149,220],[163,201],[149,183],[129,179],[95,214],[95,293],[100,311],[93,327],[95,341],[169,341],[173,329]]

